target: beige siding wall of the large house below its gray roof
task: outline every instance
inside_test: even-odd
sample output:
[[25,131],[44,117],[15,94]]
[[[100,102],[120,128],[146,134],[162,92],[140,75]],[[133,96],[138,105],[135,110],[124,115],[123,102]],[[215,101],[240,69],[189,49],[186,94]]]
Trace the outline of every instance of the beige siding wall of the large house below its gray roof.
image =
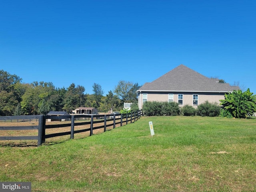
[[[142,92],[143,93],[143,92]],[[193,94],[198,95],[198,105],[204,103],[206,100],[208,100],[210,103],[220,103],[219,100],[224,99],[224,93],[198,93],[198,92],[144,92],[148,94],[147,101],[168,101],[168,94],[174,94],[173,100],[174,102],[178,102],[178,94],[183,94],[183,105],[186,104],[193,106]],[[139,96],[138,105],[142,109],[143,103],[142,103],[142,94]],[[195,108],[197,106],[194,106]]]

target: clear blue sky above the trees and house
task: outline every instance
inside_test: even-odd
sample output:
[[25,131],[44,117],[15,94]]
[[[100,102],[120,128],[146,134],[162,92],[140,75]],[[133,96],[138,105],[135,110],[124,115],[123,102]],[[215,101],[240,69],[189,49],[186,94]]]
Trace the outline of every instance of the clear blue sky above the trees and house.
[[105,95],[184,64],[256,94],[255,10],[254,0],[1,0],[0,69]]

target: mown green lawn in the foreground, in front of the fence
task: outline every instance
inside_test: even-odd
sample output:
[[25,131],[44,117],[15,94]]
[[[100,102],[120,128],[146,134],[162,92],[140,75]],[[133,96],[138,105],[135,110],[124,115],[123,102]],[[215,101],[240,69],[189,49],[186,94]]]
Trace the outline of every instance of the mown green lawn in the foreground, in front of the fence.
[[34,192],[256,191],[256,119],[142,117],[83,139],[0,147],[0,180]]

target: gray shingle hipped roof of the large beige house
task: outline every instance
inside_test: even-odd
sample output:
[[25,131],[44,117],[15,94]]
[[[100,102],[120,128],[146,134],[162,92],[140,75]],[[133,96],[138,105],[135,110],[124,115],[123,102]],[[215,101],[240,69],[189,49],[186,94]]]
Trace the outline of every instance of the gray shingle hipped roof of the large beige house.
[[239,89],[216,80],[181,64],[151,83],[145,83],[138,91],[232,92]]

